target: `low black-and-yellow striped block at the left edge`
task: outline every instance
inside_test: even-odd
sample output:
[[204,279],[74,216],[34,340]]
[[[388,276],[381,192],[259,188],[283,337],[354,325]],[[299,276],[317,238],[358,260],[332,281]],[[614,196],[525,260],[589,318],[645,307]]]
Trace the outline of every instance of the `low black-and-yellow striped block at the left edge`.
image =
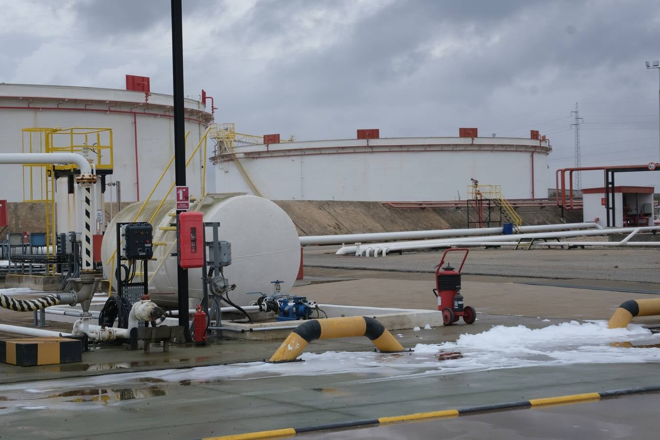
[[69,338],[0,340],[0,362],[18,367],[82,361],[82,342]]

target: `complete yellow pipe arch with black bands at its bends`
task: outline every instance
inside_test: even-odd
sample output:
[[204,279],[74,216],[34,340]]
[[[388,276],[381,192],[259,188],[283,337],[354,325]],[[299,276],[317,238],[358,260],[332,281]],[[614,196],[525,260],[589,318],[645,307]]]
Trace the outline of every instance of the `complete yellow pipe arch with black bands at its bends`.
[[307,344],[317,339],[347,338],[367,336],[381,352],[402,352],[392,334],[376,319],[366,316],[311,319],[290,332],[269,362],[289,362],[296,360]]

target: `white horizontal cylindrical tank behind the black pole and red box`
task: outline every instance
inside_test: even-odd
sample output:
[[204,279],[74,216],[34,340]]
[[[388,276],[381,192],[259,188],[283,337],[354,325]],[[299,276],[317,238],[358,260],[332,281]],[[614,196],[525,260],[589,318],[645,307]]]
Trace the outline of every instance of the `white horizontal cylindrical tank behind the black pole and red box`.
[[[159,203],[147,203],[137,221],[148,221]],[[103,272],[108,279],[116,268],[116,263],[112,267],[108,264],[116,249],[116,223],[133,221],[141,206],[142,203],[135,203],[121,210],[103,237]],[[275,280],[281,280],[282,293],[288,293],[298,274],[300,241],[293,222],[277,204],[251,195],[210,194],[193,204],[191,210],[203,212],[205,222],[220,222],[220,240],[232,243],[232,264],[224,268],[226,278],[236,284],[236,290],[229,294],[232,301],[248,305],[259,296],[248,292],[270,296],[273,293],[271,281]],[[170,256],[176,252],[176,232],[159,229],[175,222],[171,212],[174,212],[174,203],[166,201],[152,222],[154,241],[167,244],[154,247],[156,260],[149,261],[149,296],[160,305],[176,307],[177,259]],[[207,241],[211,241],[211,228],[206,228],[206,234]],[[189,305],[194,307],[203,295],[201,269],[188,270],[188,283]],[[113,284],[116,288],[116,281]]]

